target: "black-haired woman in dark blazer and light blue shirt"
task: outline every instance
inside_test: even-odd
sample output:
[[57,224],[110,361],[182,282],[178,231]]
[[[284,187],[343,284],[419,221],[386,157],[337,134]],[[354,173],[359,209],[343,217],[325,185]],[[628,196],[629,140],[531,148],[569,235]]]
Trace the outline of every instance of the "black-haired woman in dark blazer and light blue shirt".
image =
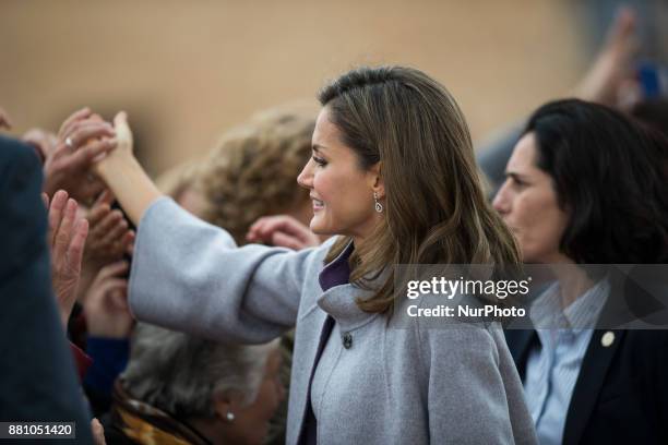
[[668,263],[667,167],[659,134],[580,100],[538,109],[508,163],[493,205],[524,262],[570,270],[532,312],[573,328],[506,330],[542,444],[668,443],[668,332],[613,329],[622,292],[643,296],[586,266]]

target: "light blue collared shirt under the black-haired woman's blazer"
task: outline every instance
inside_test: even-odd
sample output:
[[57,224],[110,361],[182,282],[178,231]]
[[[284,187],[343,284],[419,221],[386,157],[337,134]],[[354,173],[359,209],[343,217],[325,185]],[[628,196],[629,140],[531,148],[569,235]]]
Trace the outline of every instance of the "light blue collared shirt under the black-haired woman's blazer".
[[554,284],[532,304],[532,322],[541,327],[536,329],[540,346],[529,351],[524,393],[541,445],[563,441],[573,388],[608,291],[608,281],[598,281],[562,310]]

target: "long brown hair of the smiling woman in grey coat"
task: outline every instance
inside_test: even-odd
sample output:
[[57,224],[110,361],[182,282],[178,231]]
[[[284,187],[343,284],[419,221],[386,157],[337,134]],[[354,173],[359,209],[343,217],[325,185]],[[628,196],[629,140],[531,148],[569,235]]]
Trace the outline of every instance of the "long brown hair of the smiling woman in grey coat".
[[[468,127],[454,98],[427,74],[404,67],[360,68],[325,86],[327,107],[359,167],[380,163],[383,219],[350,256],[350,282],[396,264],[493,264],[515,267],[520,252],[485,199]],[[325,261],[350,241],[339,238]],[[394,270],[358,299],[367,312],[394,306]]]

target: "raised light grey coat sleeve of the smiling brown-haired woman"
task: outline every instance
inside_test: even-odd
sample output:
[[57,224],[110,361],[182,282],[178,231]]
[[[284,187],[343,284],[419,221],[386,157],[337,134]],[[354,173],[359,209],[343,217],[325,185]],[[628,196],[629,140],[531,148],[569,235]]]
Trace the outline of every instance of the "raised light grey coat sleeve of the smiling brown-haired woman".
[[237,248],[225,230],[162,197],[139,225],[130,306],[139,320],[167,328],[265,342],[294,327],[303,282],[318,277],[323,249]]

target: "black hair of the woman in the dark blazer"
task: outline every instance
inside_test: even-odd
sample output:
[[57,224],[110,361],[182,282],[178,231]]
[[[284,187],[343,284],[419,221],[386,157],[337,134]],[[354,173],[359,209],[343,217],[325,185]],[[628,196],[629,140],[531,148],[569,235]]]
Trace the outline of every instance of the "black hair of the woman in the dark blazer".
[[536,165],[552,178],[570,214],[561,251],[581,264],[668,258],[666,140],[622,113],[576,99],[544,105],[534,132]]

